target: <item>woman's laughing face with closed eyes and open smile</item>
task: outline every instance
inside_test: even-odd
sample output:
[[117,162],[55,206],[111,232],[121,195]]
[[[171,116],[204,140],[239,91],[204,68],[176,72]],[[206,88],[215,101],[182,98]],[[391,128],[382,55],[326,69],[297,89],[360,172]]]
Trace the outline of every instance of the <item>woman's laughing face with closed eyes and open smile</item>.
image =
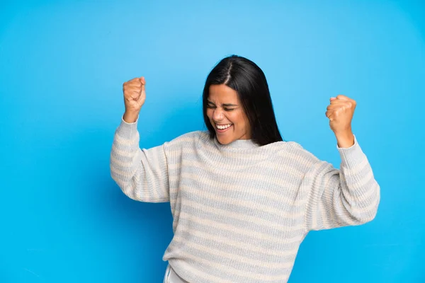
[[237,139],[251,139],[248,118],[237,92],[225,84],[210,86],[207,116],[220,144],[229,144]]

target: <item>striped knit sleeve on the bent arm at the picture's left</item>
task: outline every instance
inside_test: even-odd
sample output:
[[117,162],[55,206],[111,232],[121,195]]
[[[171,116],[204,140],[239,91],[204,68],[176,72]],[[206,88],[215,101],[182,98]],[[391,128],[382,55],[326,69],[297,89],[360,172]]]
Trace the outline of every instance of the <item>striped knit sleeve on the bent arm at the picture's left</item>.
[[[137,119],[138,120],[138,119]],[[125,195],[141,202],[169,202],[169,175],[164,148],[140,149],[137,121],[121,118],[111,149],[111,177]]]

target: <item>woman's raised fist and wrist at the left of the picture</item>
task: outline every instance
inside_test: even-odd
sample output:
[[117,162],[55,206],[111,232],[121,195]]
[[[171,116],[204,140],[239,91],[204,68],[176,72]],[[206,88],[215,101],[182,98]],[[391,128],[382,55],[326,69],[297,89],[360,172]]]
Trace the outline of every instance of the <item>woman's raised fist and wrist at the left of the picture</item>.
[[145,103],[145,77],[135,78],[123,83],[125,113],[123,119],[125,122],[135,122],[139,115],[142,105]]

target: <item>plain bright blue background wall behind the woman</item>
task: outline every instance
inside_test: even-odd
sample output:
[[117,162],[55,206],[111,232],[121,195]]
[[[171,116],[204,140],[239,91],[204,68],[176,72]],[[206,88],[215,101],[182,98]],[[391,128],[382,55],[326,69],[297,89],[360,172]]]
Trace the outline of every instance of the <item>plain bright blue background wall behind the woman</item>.
[[145,76],[140,146],[205,129],[203,83],[239,54],[280,131],[339,167],[341,93],[382,199],[375,220],[310,233],[290,282],[425,282],[425,4],[2,1],[0,282],[162,282],[169,203],[125,197],[109,154],[122,85]]

